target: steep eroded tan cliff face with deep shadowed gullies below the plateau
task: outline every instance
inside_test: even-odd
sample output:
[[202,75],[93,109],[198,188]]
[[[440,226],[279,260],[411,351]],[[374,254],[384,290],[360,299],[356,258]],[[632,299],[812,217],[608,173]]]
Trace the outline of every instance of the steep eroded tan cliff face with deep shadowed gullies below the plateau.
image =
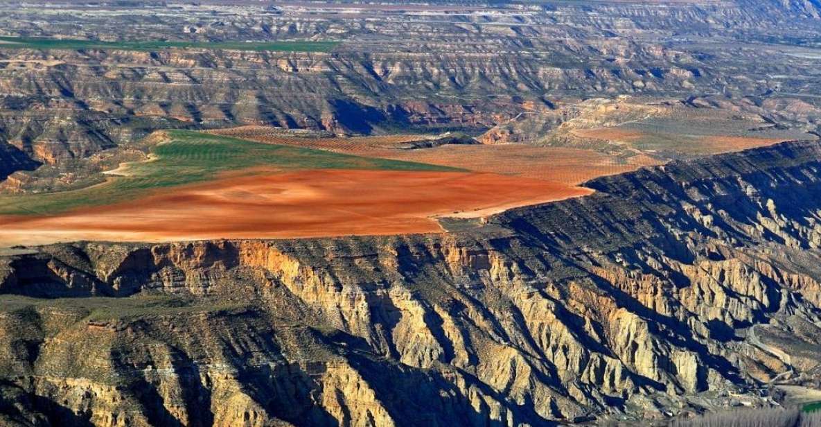
[[[811,380],[821,145],[589,182],[469,232],[0,257],[0,409],[47,425],[544,425]],[[54,299],[57,298],[57,299]]]

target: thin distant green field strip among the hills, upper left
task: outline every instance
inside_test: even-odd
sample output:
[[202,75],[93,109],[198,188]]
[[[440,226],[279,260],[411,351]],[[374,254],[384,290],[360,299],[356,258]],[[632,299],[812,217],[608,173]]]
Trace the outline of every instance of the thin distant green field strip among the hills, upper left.
[[80,39],[48,39],[39,37],[0,37],[0,48],[33,49],[121,49],[149,51],[167,48],[228,49],[276,52],[329,52],[339,42],[279,41],[279,42],[186,42],[186,41],[120,41],[105,42]]

